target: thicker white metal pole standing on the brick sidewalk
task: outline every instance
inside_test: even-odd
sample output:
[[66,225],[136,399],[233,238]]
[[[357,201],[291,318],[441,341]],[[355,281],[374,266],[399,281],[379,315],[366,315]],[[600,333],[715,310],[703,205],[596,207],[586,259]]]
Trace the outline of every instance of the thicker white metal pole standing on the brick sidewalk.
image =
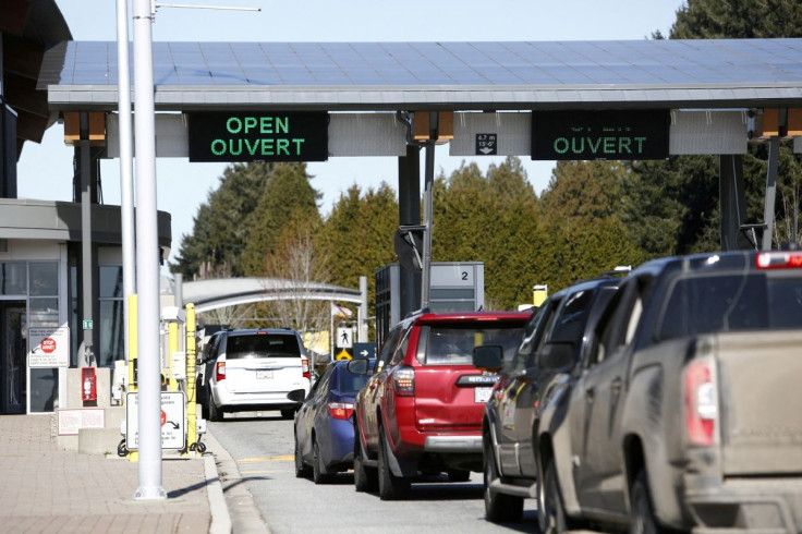
[[134,0],[136,150],[136,287],[139,487],[135,499],[166,499],[161,487],[161,378],[159,357],[159,241],[156,219],[153,12]]

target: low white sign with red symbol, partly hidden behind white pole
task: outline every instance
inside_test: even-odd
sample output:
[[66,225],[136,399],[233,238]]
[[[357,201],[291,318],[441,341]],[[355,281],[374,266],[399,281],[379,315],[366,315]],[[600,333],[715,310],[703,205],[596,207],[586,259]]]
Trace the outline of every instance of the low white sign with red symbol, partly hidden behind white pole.
[[[139,448],[139,395],[125,396],[125,448]],[[161,448],[186,447],[186,398],[183,391],[161,392]]]

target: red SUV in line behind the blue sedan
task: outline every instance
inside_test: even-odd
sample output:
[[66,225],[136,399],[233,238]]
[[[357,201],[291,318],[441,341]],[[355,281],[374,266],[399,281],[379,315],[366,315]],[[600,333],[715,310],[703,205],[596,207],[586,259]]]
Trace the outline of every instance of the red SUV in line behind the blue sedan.
[[[473,349],[511,359],[530,312],[427,313],[399,323],[354,404],[354,483],[402,499],[417,474],[466,482],[482,472],[482,414],[497,375],[477,371]],[[354,364],[359,365],[359,364]]]

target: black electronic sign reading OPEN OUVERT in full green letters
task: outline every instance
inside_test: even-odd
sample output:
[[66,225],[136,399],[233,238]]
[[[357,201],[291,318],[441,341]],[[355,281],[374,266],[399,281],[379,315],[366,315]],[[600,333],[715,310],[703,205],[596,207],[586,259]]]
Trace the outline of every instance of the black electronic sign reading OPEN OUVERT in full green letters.
[[189,113],[190,161],[326,161],[326,112]]

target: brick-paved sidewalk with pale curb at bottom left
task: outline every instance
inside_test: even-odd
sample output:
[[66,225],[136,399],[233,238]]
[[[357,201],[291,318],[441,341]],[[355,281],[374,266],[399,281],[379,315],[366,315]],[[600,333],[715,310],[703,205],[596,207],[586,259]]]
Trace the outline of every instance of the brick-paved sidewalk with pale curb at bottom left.
[[215,462],[230,457],[204,441],[203,457],[165,451],[167,499],[134,500],[138,463],[61,450],[50,414],[2,415],[0,533],[231,532]]

